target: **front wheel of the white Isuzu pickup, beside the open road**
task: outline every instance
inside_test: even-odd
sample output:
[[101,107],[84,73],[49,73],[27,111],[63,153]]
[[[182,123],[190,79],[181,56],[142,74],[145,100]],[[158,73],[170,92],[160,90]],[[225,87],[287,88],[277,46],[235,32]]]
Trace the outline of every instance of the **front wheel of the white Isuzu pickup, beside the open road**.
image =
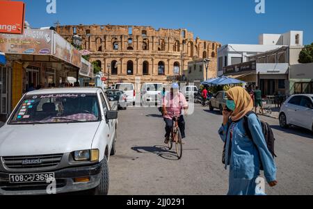
[[102,162],[100,183],[92,190],[92,192],[94,195],[107,195],[109,193],[109,167],[106,156],[104,156]]

